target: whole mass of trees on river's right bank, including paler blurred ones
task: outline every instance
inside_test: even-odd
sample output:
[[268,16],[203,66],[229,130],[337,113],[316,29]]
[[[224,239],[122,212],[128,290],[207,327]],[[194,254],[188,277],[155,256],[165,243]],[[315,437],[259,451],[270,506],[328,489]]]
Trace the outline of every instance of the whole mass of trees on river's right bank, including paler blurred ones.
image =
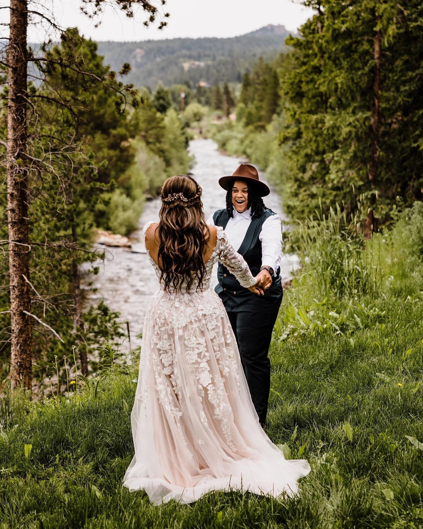
[[214,138],[277,184],[291,218],[336,203],[370,236],[397,197],[423,196],[423,5],[307,0],[291,52],[242,80],[237,124]]

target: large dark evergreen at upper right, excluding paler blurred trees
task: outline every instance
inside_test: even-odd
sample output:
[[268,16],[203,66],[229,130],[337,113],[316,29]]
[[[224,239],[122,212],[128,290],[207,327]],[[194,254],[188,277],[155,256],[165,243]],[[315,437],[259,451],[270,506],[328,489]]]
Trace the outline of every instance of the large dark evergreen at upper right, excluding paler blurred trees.
[[370,234],[375,207],[385,218],[396,195],[421,196],[423,5],[304,3],[316,14],[301,26],[300,38],[287,40],[296,63],[284,82],[287,205],[304,217],[319,201],[325,209],[338,202],[353,211],[361,197],[363,229]]

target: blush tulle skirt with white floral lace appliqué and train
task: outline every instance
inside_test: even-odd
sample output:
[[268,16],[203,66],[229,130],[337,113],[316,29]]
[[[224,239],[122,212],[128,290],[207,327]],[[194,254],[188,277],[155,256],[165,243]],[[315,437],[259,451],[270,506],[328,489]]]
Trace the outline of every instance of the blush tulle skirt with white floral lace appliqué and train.
[[297,494],[306,460],[286,460],[255,412],[225,308],[213,290],[159,290],[144,321],[124,486],[154,504],[212,490]]

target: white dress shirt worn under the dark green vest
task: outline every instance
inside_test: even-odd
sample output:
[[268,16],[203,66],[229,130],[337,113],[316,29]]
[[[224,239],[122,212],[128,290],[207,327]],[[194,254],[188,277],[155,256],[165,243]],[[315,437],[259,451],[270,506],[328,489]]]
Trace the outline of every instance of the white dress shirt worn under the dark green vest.
[[[251,207],[243,213],[238,213],[233,208],[233,214],[234,216],[229,218],[226,224],[225,233],[235,250],[239,250],[251,223]],[[213,216],[209,217],[207,224],[214,224]],[[261,241],[262,266],[270,266],[276,275],[281,262],[283,242],[282,221],[279,215],[271,215],[266,218],[261,227],[259,239]]]

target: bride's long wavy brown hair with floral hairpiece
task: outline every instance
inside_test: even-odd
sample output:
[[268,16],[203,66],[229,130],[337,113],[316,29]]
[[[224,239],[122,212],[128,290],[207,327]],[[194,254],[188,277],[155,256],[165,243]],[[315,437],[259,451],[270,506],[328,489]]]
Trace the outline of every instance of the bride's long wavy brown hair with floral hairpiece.
[[171,176],[161,190],[158,260],[164,290],[179,291],[185,282],[191,290],[203,287],[204,253],[210,237],[201,202],[201,187],[186,175]]

